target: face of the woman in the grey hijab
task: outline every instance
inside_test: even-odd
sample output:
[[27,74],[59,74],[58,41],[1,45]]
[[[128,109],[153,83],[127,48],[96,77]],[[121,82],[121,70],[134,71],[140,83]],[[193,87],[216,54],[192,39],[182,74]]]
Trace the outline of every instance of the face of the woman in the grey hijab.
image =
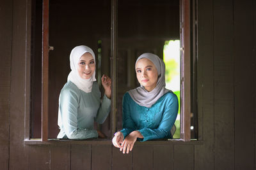
[[136,76],[141,85],[148,91],[152,91],[157,84],[157,69],[154,63],[146,58],[138,60],[135,66]]

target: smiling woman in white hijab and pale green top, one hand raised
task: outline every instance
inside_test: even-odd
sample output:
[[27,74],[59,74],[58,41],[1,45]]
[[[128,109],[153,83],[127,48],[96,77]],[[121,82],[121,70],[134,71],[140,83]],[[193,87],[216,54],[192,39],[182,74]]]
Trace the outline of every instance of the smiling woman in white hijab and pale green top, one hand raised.
[[93,129],[94,121],[102,124],[108,117],[111,104],[111,79],[101,78],[105,90],[100,103],[100,90],[95,79],[95,55],[88,46],[76,46],[70,53],[71,71],[60,92],[58,125],[60,139],[104,137]]

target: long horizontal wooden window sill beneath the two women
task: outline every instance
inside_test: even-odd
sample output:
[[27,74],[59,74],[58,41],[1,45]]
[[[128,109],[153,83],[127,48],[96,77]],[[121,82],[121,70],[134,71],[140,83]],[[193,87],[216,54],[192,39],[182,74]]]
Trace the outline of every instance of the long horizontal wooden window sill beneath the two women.
[[[182,139],[159,139],[155,141],[137,141],[136,145],[202,145],[203,141],[191,139],[191,141],[182,141]],[[84,139],[84,140],[63,140],[48,139],[41,141],[40,139],[25,139],[24,145],[112,145],[111,139]]]

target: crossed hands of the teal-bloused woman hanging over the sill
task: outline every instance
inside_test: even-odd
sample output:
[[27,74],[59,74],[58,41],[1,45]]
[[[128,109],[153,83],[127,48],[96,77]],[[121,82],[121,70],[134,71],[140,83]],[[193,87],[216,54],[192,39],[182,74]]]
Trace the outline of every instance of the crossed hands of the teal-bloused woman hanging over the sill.
[[124,134],[118,131],[115,133],[115,136],[112,139],[112,143],[116,148],[120,148],[121,152],[129,153],[130,151],[132,151],[132,148],[137,138],[143,138],[139,131],[131,132],[128,136],[126,136],[125,139]]

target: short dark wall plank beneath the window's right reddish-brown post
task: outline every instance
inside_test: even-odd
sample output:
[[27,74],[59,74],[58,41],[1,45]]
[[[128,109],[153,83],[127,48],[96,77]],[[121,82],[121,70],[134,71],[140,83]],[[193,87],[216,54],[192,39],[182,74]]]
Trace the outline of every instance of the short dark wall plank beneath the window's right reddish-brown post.
[[174,145],[174,169],[194,169],[194,146]]

